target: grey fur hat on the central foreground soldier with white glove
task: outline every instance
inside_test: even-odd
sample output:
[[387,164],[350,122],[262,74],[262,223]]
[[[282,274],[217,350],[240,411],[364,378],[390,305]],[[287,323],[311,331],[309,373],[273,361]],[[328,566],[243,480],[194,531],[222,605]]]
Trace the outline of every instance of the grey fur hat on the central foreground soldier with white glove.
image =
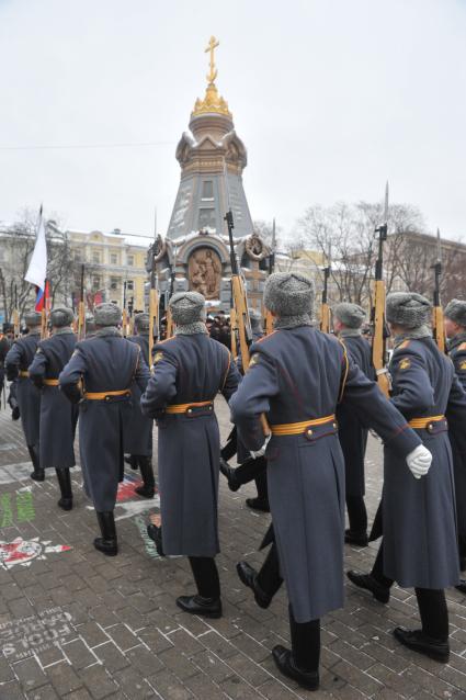
[[264,304],[281,316],[312,315],[314,283],[298,272],[274,272],[265,282]]

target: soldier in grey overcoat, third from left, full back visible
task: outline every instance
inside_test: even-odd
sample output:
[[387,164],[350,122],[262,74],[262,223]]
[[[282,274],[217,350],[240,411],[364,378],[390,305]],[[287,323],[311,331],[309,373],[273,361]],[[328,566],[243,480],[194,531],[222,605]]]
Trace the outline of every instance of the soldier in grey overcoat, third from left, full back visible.
[[94,309],[95,334],[76,346],[59,375],[59,386],[79,403],[79,449],[84,489],[92,498],[102,537],[94,546],[117,554],[113,509],[123,479],[123,445],[132,417],[132,387],[143,392],[149,369],[140,348],[122,337],[122,312],[115,304]]

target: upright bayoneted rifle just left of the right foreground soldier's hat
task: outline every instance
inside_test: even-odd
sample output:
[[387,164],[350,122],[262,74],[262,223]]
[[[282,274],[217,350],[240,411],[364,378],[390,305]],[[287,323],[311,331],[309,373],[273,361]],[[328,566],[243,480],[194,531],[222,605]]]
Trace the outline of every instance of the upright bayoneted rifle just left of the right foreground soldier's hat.
[[385,319],[385,282],[384,282],[384,242],[388,233],[388,182],[385,189],[385,224],[375,229],[378,234],[378,257],[375,263],[374,306],[371,309],[372,336],[372,363],[374,365],[377,384],[385,396],[389,396],[390,386],[386,365],[386,340],[389,330]]

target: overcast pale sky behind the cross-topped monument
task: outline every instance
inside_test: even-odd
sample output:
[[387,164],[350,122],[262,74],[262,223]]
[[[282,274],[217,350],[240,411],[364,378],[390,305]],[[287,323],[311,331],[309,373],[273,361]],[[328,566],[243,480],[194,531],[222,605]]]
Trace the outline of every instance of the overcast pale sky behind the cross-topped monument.
[[[466,0],[0,0],[0,221],[164,233],[212,34],[253,218],[394,201],[466,235]],[[73,149],[4,147],[134,144]],[[466,237],[466,236],[465,236]]]

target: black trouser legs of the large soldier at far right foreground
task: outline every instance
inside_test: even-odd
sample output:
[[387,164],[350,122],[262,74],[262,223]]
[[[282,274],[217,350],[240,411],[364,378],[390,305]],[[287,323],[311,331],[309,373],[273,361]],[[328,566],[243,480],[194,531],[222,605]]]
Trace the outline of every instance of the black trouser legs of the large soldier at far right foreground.
[[[384,574],[384,542],[379,546],[371,574],[376,582],[387,588],[390,588],[395,583]],[[445,591],[433,588],[414,588],[414,591],[422,622],[422,632],[433,640],[446,642],[448,639],[448,609],[446,607]]]

